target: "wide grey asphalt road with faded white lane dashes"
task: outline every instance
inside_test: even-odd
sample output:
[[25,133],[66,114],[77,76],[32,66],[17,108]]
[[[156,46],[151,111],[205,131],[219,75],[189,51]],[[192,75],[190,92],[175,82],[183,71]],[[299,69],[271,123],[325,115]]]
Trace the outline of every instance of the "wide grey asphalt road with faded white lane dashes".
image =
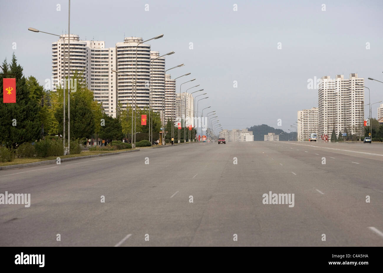
[[0,204],[0,246],[383,246],[382,167],[378,143],[252,141],[3,170],[31,202]]

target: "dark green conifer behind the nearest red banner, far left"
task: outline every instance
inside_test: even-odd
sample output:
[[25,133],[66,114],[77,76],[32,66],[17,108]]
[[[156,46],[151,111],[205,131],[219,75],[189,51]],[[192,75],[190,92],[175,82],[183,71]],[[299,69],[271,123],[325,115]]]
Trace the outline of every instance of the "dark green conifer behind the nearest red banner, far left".
[[[8,65],[5,59],[2,67],[0,97],[3,98],[3,78],[16,78],[16,103],[0,103],[0,142],[16,148],[21,143],[39,139],[41,106],[30,99],[31,92],[23,76],[23,68],[17,64],[14,53],[11,64]],[[16,126],[13,126],[13,120],[16,120]]]

